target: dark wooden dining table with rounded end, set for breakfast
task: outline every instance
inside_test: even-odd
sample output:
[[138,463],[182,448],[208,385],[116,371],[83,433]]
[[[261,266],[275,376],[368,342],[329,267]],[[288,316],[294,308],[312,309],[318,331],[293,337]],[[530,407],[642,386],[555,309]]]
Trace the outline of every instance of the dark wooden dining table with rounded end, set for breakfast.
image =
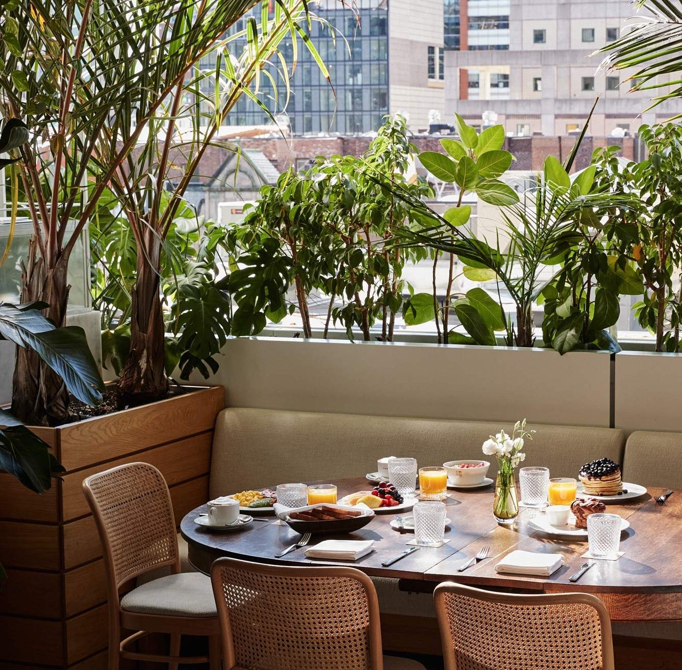
[[[333,481],[333,480],[330,480]],[[339,495],[368,489],[364,478],[336,480]],[[366,574],[409,580],[410,590],[429,591],[434,583],[453,580],[464,584],[492,587],[510,592],[589,592],[608,606],[612,620],[674,621],[682,620],[682,493],[676,492],[665,505],[655,504],[654,495],[663,489],[650,489],[647,495],[623,504],[609,505],[608,511],[623,516],[630,527],[621,536],[625,555],[616,561],[599,560],[577,583],[568,581],[586,559],[587,541],[549,536],[536,530],[529,521],[536,510],[521,508],[514,525],[503,526],[492,516],[492,486],[469,491],[449,491],[447,516],[451,524],[445,531],[443,547],[421,547],[419,551],[384,568],[381,562],[406,549],[413,534],[400,534],[391,528],[391,513],[377,514],[371,523],[353,534],[314,535],[312,543],[323,539],[374,540],[374,551],[351,565]],[[288,565],[329,565],[333,562],[307,559],[302,549],[282,559],[274,555],[301,537],[288,525],[274,523],[274,516],[260,517],[239,531],[215,533],[201,528],[194,519],[206,511],[201,506],[187,514],[181,533],[189,544],[192,565],[209,572],[220,556],[261,563]],[[409,514],[410,512],[406,512]],[[484,545],[490,557],[465,572],[458,566],[475,555]],[[561,553],[564,565],[550,577],[527,577],[499,574],[494,567],[501,557],[514,549]]]

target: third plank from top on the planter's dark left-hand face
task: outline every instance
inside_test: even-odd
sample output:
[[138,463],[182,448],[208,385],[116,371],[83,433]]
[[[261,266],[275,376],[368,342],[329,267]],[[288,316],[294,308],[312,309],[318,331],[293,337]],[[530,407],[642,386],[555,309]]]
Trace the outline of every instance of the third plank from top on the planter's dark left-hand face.
[[0,561],[5,568],[59,570],[59,527],[0,521]]

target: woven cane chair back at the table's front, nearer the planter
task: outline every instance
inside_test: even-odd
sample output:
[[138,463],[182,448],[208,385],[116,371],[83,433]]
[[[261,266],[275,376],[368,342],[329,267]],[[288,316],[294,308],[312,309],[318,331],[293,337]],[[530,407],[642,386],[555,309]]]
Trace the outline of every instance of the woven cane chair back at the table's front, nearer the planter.
[[383,670],[379,603],[359,570],[220,558],[211,579],[225,670]]

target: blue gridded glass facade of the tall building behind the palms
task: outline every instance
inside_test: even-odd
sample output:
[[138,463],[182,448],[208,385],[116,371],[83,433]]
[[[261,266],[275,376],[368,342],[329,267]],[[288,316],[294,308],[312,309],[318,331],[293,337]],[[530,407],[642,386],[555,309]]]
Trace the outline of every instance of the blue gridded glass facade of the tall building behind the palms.
[[[298,62],[291,78],[291,97],[286,108],[295,135],[338,132],[361,134],[376,130],[389,110],[388,80],[388,8],[385,0],[359,0],[359,23],[350,10],[338,3],[321,3],[314,11],[336,29],[314,22],[310,37],[331,77],[331,85],[322,76],[317,63],[298,40]],[[260,16],[260,9],[254,10]],[[237,25],[235,30],[243,29]],[[341,37],[343,35],[346,41]],[[291,39],[281,46],[286,63],[293,62]],[[273,113],[281,113],[286,98],[286,86],[272,70],[278,81],[279,99],[273,95],[267,77],[261,78],[259,98]],[[336,98],[334,96],[336,91]],[[254,126],[270,123],[267,114],[247,96],[237,102],[228,115],[228,123]]]

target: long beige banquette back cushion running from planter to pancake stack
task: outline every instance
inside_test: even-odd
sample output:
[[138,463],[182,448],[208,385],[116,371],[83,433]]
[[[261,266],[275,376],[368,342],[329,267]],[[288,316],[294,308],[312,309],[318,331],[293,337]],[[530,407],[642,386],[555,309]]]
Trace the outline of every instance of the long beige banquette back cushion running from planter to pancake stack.
[[[481,445],[499,422],[396,418],[273,409],[224,409],[216,419],[211,497],[283,482],[363,476],[382,456],[415,456],[419,465],[484,458]],[[535,424],[524,465],[577,476],[587,461],[622,462],[625,439],[612,428]],[[490,459],[488,459],[490,460]],[[496,472],[492,463],[490,476]]]

